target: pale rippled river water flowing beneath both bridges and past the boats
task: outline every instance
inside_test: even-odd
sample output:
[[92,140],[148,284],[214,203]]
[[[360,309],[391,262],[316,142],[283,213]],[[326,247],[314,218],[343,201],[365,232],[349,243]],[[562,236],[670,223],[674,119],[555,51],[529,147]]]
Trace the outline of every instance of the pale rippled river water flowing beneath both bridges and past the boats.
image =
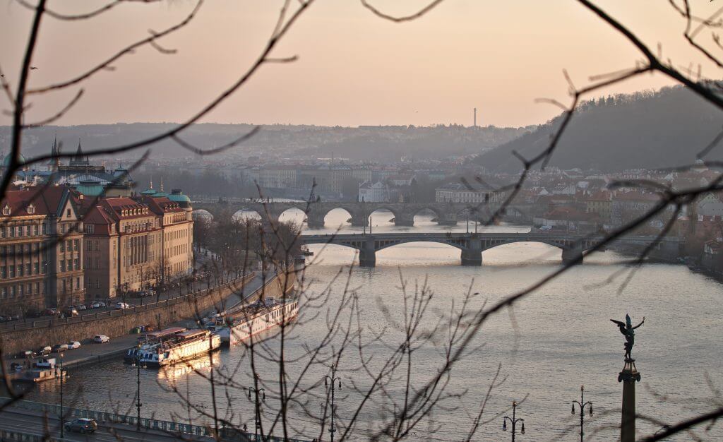
[[[301,213],[288,211],[283,219],[299,220]],[[437,226],[431,216],[417,216],[414,227],[395,227],[390,223],[391,213],[377,212],[372,216],[375,232],[382,231],[465,231],[466,223],[454,228]],[[361,231],[345,224],[345,211],[332,211],[327,216],[327,227],[317,232],[328,233]],[[474,231],[474,226],[469,229]],[[479,229],[482,229],[480,227]],[[492,231],[526,231],[524,226],[493,226]],[[354,260],[354,252],[344,247],[311,247],[317,262],[307,269],[309,294],[321,293],[338,276],[340,268]],[[460,251],[435,243],[412,243],[390,247],[377,253],[376,268],[354,268],[348,276],[338,278],[331,285],[328,307],[333,309],[335,297],[341,297],[345,285],[354,289],[359,297],[360,320],[365,336],[380,331],[390,320],[399,320],[403,311],[401,281],[406,281],[408,293],[415,284],[427,280],[435,296],[427,323],[435,315],[448,312],[450,303],[456,305],[463,295],[479,292],[474,306],[485,300],[489,303],[530,286],[560,268],[560,250],[536,243],[518,243],[488,250],[483,254],[483,266],[461,267]],[[471,427],[472,417],[487,393],[497,367],[501,365],[502,385],[492,389],[491,397],[482,415],[475,441],[505,441],[510,437],[502,433],[502,417],[513,400],[522,401],[518,417],[525,420],[526,435],[518,434],[519,441],[576,441],[579,440],[579,417],[570,415],[570,403],[580,399],[580,386],[584,384],[585,399],[594,403],[594,415],[586,415],[586,440],[609,441],[617,438],[616,425],[620,422],[622,385],[617,373],[623,365],[623,336],[610,318],[623,320],[630,313],[633,322],[646,316],[646,322],[636,333],[636,357],[642,381],[637,384],[638,413],[656,422],[674,423],[714,407],[714,393],[710,384],[723,386],[723,352],[721,349],[721,314],[723,286],[701,274],[688,271],[682,265],[646,264],[630,279],[622,293],[618,293],[624,276],[609,282],[610,276],[624,268],[625,257],[615,252],[602,252],[586,258],[586,262],[568,273],[537,289],[533,294],[515,303],[513,309],[504,310],[485,323],[474,338],[474,351],[466,354],[454,367],[450,391],[467,391],[460,399],[447,404],[449,411],[438,410],[433,416],[439,428],[424,425],[415,430],[411,440],[461,441]],[[326,331],[324,320],[327,307],[307,307],[294,328],[294,340],[288,341],[288,354],[301,353],[301,344],[313,345]],[[382,311],[387,312],[382,314]],[[317,316],[317,314],[319,314]],[[313,318],[313,320],[312,320]],[[444,334],[445,332],[440,332]],[[393,340],[395,333],[388,337]],[[82,338],[82,336],[79,336]],[[270,344],[274,345],[274,344]],[[294,348],[296,346],[296,348]],[[382,344],[370,344],[367,350],[376,361],[388,354]],[[249,385],[247,358],[241,349],[223,349],[214,358],[214,365],[226,373],[231,367],[241,366],[234,379]],[[260,373],[268,369],[273,379],[273,367],[260,364]],[[426,345],[415,353],[414,381],[421,385],[429,375],[436,373],[441,363],[441,346]],[[210,360],[194,362],[200,373],[210,373]],[[239,365],[240,364],[240,365]],[[343,358],[338,375],[342,390],[338,392],[338,415],[343,427],[351,415],[359,396],[352,385],[368,386],[369,378],[358,371],[345,370],[358,364],[356,354]],[[295,373],[298,367],[290,367]],[[325,374],[320,367],[312,367],[302,382],[312,387]],[[133,412],[135,370],[121,362],[105,362],[93,367],[82,367],[71,373],[67,381],[66,397],[73,397],[77,407],[90,409],[118,409]],[[264,375],[264,377],[266,377]],[[153,414],[160,419],[174,415],[187,416],[188,409],[175,392],[188,395],[192,402],[201,404],[201,411],[210,410],[210,388],[202,376],[191,373],[187,367],[174,370],[142,370],[142,401],[144,415]],[[402,383],[390,383],[390,395],[399,399]],[[273,390],[273,386],[268,388]],[[312,390],[323,391],[323,384]],[[70,392],[70,393],[68,393]],[[218,392],[217,392],[218,393]],[[222,393],[221,395],[225,394]],[[221,404],[223,412],[231,409],[234,422],[247,422],[253,428],[252,403],[243,391],[231,391],[231,407]],[[57,401],[55,383],[40,385],[28,399]],[[273,394],[269,394],[273,396]],[[312,415],[319,414],[317,401],[312,401]],[[389,402],[377,398],[361,413],[354,432],[354,440],[365,440],[380,422],[383,407]],[[273,409],[273,397],[265,407]],[[194,412],[191,413],[192,415]],[[222,413],[223,414],[223,413]],[[264,413],[264,419],[270,412]],[[296,435],[308,439],[318,437],[318,425],[313,417],[296,412],[292,414]],[[661,424],[638,420],[638,435],[649,435]],[[519,428],[518,428],[519,431]],[[275,434],[279,434],[278,431]],[[696,431],[707,441],[723,440],[723,427],[716,425],[708,432]],[[325,435],[328,440],[328,433]],[[692,440],[690,435],[672,439]]]

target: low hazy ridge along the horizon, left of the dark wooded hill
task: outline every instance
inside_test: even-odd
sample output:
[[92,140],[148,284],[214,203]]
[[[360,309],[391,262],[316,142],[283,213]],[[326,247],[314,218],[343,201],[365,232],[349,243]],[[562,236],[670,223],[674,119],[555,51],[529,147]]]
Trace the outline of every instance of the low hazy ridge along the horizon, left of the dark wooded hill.
[[[174,127],[171,123],[89,124],[82,126],[45,126],[28,129],[23,135],[25,156],[49,153],[54,137],[62,143],[63,152],[74,152],[78,140],[83,149],[98,150],[124,145],[158,135]],[[181,137],[200,148],[209,149],[235,140],[252,129],[250,124],[196,124]],[[418,160],[470,155],[494,148],[522,135],[526,129],[517,127],[462,126],[367,126],[323,127],[309,125],[270,124],[263,126],[240,148],[226,151],[224,156],[243,160],[258,156],[268,161],[277,158],[351,158],[361,161],[399,161],[403,156]],[[11,128],[0,126],[0,150],[9,151]],[[193,158],[188,150],[172,140],[152,146],[152,158]],[[120,158],[137,157],[140,152]]]

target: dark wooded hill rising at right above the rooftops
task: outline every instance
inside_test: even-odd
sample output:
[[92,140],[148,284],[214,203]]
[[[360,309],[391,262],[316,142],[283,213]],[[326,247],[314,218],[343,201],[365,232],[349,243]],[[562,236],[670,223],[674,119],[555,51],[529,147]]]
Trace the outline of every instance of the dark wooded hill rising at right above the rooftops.
[[[541,152],[560,121],[558,116],[474,161],[490,170],[518,171],[521,163],[511,152],[525,158]],[[620,171],[693,163],[722,124],[719,110],[683,87],[599,98],[581,104],[550,166]],[[706,159],[723,159],[723,145]]]

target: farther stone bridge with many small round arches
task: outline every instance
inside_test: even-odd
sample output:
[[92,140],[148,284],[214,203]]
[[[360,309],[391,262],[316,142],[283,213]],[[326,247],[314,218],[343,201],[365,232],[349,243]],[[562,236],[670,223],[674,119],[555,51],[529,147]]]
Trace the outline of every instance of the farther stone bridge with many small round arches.
[[[437,217],[437,224],[442,226],[455,226],[458,218],[464,220],[469,212],[471,203],[202,203],[194,202],[194,209],[202,209],[213,215],[219,210],[228,209],[231,211],[247,210],[255,211],[264,221],[278,221],[278,217],[289,209],[299,209],[306,213],[307,225],[311,228],[324,226],[324,218],[335,208],[344,209],[351,215],[352,226],[368,226],[369,216],[372,212],[388,210],[394,215],[395,226],[414,226],[414,216],[426,210],[432,211]],[[499,206],[484,205],[480,208],[480,215],[484,218],[497,210]],[[474,216],[470,216],[473,219]]]

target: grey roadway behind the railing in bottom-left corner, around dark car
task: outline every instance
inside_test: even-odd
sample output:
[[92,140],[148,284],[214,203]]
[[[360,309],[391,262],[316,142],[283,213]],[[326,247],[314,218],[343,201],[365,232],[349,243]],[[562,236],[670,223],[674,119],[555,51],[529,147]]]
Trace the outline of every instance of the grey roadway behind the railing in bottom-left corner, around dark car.
[[[66,419],[66,422],[69,419]],[[0,412],[0,428],[3,430],[17,431],[20,433],[43,436],[49,434],[53,437],[60,437],[60,420],[57,416],[45,416],[41,412],[33,412],[15,407],[7,407]],[[145,441],[145,442],[166,442],[178,441],[179,438],[171,433],[164,433],[160,430],[137,431],[134,425],[120,423],[98,422],[98,430],[93,434],[80,434],[64,432],[65,441]],[[207,436],[194,436],[184,434],[182,439],[189,441],[213,441]]]

